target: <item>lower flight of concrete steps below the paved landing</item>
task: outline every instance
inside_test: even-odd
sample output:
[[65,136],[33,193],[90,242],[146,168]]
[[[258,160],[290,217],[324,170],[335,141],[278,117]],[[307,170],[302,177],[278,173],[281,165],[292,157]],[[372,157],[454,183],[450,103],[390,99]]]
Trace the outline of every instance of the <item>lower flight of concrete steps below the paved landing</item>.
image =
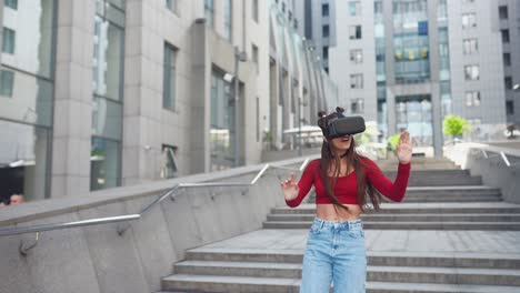
[[[298,292],[302,254],[192,250],[162,280],[174,292]],[[367,292],[520,292],[518,255],[368,253]],[[319,292],[318,292],[319,293]]]

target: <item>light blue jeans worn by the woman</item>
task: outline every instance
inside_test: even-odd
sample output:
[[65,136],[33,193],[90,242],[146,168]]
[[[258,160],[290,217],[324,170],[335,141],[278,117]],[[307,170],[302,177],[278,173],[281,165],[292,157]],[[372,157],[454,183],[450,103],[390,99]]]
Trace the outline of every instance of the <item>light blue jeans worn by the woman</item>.
[[303,255],[300,293],[364,293],[367,250],[361,220],[316,218]]

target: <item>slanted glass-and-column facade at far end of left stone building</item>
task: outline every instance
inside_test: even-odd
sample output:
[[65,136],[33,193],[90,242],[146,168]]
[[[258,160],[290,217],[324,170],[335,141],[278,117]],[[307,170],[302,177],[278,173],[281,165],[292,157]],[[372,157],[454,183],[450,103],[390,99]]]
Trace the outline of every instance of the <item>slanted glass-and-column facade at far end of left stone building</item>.
[[317,47],[300,33],[298,1],[271,0],[270,133],[277,149],[294,145],[282,130],[316,125],[318,111],[338,100],[338,87],[321,67]]

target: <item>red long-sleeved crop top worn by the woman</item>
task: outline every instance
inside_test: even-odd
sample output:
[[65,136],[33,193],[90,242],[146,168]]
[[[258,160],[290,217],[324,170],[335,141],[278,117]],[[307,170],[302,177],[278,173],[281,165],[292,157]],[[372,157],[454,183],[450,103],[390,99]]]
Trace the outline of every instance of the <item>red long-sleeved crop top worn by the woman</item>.
[[[379,166],[370,159],[362,158],[363,171],[366,179],[381,192],[384,196],[392,201],[400,202],[404,198],[407,191],[408,178],[410,176],[410,163],[399,164],[396,181],[392,183],[383,175]],[[320,160],[313,160],[303,171],[298,186],[300,191],[294,200],[286,201],[287,205],[296,208],[300,205],[303,198],[309,193],[310,188],[314,184],[316,203],[332,203],[327,196],[323,182],[319,174]],[[356,181],[356,172],[351,172],[346,176],[339,176],[334,188],[334,195],[342,204],[358,204],[358,183]]]

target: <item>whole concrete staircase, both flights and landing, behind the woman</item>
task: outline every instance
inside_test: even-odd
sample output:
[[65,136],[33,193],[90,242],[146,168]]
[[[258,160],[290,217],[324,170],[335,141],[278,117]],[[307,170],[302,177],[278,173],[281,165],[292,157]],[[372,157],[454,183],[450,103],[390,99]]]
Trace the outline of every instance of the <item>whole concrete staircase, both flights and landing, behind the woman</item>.
[[[473,185],[480,178],[443,164],[449,170],[412,173],[416,183],[430,182],[434,173],[431,182],[439,184],[411,186],[403,203],[386,203],[362,216],[371,243],[367,292],[520,292],[520,247],[514,247],[520,246],[520,205],[502,202],[496,188]],[[452,184],[449,174],[461,184]],[[188,251],[174,274],[162,280],[163,292],[298,292],[314,208],[273,209],[264,230]],[[460,249],[473,238],[490,247]],[[418,249],[386,251],[389,244],[377,241],[416,241],[431,250],[414,244]],[[280,249],[280,243],[300,249]]]

